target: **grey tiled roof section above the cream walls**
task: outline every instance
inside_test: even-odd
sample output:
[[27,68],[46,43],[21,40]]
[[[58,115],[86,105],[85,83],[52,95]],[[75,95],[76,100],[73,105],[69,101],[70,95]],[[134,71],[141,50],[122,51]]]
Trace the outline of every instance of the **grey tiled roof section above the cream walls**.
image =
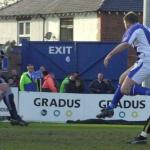
[[97,11],[101,0],[21,0],[0,10],[0,16]]

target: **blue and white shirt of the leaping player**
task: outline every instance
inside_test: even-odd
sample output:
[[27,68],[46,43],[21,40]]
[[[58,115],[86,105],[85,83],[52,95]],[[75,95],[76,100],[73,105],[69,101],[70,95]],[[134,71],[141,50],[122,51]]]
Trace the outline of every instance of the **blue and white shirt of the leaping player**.
[[140,23],[132,25],[123,35],[124,42],[136,48],[140,60],[150,62],[150,28]]

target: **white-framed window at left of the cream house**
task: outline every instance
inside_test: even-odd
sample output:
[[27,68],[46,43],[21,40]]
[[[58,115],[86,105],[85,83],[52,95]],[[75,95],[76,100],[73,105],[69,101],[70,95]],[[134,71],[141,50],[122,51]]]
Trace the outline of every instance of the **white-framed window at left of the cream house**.
[[18,44],[22,39],[30,40],[30,21],[18,22]]

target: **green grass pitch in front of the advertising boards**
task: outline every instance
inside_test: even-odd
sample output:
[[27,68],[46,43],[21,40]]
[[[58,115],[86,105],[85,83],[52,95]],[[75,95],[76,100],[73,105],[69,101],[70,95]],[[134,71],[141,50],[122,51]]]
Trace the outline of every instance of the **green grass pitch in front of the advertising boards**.
[[0,123],[0,150],[149,150],[150,144],[129,145],[143,126]]

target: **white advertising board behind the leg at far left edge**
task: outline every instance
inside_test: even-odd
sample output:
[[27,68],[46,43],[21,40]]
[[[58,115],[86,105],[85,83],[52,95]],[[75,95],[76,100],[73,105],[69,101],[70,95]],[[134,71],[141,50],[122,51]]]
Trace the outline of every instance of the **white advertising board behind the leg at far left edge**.
[[[14,94],[14,101],[16,108],[18,110],[18,88],[11,88],[12,93]],[[4,101],[0,101],[0,116],[10,116],[7,106],[5,105]]]

